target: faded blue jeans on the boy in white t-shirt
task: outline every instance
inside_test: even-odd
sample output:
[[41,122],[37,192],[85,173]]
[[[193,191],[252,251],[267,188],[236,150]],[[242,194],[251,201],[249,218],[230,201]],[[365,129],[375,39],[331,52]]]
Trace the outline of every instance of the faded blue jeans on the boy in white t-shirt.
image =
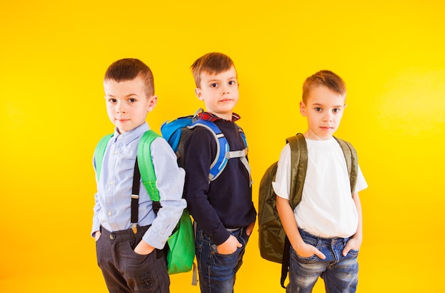
[[350,250],[343,256],[343,248],[349,238],[319,238],[299,229],[305,243],[315,246],[326,259],[316,255],[302,258],[291,247],[289,264],[289,284],[286,293],[312,292],[321,277],[327,293],[355,292],[358,283],[358,250]]

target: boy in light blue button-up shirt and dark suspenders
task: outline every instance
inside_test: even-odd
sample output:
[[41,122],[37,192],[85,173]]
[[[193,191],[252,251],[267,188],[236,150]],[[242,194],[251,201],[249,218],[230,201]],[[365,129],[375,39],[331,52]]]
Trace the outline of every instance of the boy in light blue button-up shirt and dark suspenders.
[[[169,292],[163,247],[181,217],[184,170],[163,138],[151,144],[161,209],[157,215],[139,182],[138,226],[130,224],[137,145],[149,130],[146,115],[156,106],[150,68],[137,59],[117,60],[104,77],[107,114],[114,124],[97,180],[92,236],[109,292]],[[96,166],[95,166],[96,170]],[[97,170],[96,170],[97,171]]]

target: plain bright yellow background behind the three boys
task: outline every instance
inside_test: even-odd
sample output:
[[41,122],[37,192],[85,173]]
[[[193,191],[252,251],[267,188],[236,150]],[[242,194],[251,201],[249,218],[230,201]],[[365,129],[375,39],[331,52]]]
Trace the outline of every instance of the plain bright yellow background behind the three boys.
[[[159,131],[202,106],[189,67],[212,51],[238,70],[256,206],[284,139],[306,129],[304,79],[345,79],[336,135],[353,142],[369,184],[358,292],[444,292],[445,7],[360,2],[2,0],[0,292],[106,292],[90,237],[92,152],[112,131],[104,71],[122,57],[151,67]],[[255,231],[235,291],[284,292],[257,241]],[[171,292],[198,292],[190,280],[173,275]]]

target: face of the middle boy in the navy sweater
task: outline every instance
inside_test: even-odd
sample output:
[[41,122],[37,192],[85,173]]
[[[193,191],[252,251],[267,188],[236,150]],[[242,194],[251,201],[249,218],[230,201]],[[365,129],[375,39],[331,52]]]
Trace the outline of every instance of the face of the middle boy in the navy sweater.
[[195,94],[204,101],[206,111],[231,121],[239,96],[235,67],[218,74],[203,72],[200,77],[200,87],[195,89]]

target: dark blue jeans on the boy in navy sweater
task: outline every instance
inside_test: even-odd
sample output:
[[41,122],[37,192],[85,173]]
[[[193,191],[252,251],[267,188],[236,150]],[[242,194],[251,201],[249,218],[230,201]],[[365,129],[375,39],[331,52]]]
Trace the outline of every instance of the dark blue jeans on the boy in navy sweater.
[[217,253],[216,245],[199,228],[196,229],[196,260],[198,261],[199,286],[201,293],[230,293],[235,285],[235,275],[242,265],[242,256],[249,236],[245,228],[231,231],[242,244],[235,253],[221,255]]

